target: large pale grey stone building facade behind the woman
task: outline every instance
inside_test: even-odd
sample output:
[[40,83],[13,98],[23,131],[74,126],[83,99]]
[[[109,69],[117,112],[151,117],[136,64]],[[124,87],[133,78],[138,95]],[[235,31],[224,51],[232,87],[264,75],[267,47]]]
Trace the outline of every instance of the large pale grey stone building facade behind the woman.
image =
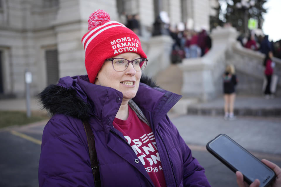
[[[139,15],[150,64],[171,49],[169,36],[151,34],[159,11],[167,12],[171,25],[191,20],[194,28],[209,28],[209,0],[0,0],[0,98],[24,96],[25,71],[32,73],[32,95],[59,77],[86,74],[81,38],[97,9],[118,21],[122,12]],[[150,55],[155,50],[158,57]]]

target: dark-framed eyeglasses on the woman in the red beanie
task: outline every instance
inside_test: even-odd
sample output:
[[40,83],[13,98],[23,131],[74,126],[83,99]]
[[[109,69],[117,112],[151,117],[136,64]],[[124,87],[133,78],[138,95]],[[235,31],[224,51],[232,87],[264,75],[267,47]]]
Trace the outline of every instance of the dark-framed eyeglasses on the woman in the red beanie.
[[135,60],[127,60],[125,58],[107,58],[112,62],[112,67],[115,71],[125,71],[129,66],[129,63],[133,64],[136,71],[142,71],[145,69],[148,58],[137,58]]

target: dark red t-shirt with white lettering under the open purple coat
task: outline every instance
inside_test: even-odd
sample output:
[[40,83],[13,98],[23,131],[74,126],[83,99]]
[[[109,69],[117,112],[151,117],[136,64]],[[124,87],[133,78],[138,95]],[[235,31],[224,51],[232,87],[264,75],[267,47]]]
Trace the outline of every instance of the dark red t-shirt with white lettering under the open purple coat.
[[115,118],[113,127],[119,130],[133,148],[156,187],[166,186],[165,177],[156,147],[155,137],[148,126],[130,108],[127,120]]

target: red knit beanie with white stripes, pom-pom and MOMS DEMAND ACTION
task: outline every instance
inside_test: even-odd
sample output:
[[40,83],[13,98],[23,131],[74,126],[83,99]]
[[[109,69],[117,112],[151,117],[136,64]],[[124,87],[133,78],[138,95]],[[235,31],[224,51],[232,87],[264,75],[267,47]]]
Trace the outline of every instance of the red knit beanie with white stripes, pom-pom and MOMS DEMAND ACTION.
[[88,30],[82,44],[85,49],[85,67],[91,83],[95,82],[105,59],[126,52],[133,52],[147,58],[141,49],[140,39],[125,25],[110,21],[104,10],[92,13],[88,20]]

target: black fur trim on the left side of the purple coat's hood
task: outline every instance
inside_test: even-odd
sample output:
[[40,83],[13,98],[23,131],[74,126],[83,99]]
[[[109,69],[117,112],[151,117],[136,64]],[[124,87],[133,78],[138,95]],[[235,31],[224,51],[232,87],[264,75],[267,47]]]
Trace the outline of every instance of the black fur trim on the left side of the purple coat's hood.
[[43,107],[49,113],[64,114],[87,120],[90,106],[77,96],[73,88],[63,88],[57,85],[50,85],[38,94]]

